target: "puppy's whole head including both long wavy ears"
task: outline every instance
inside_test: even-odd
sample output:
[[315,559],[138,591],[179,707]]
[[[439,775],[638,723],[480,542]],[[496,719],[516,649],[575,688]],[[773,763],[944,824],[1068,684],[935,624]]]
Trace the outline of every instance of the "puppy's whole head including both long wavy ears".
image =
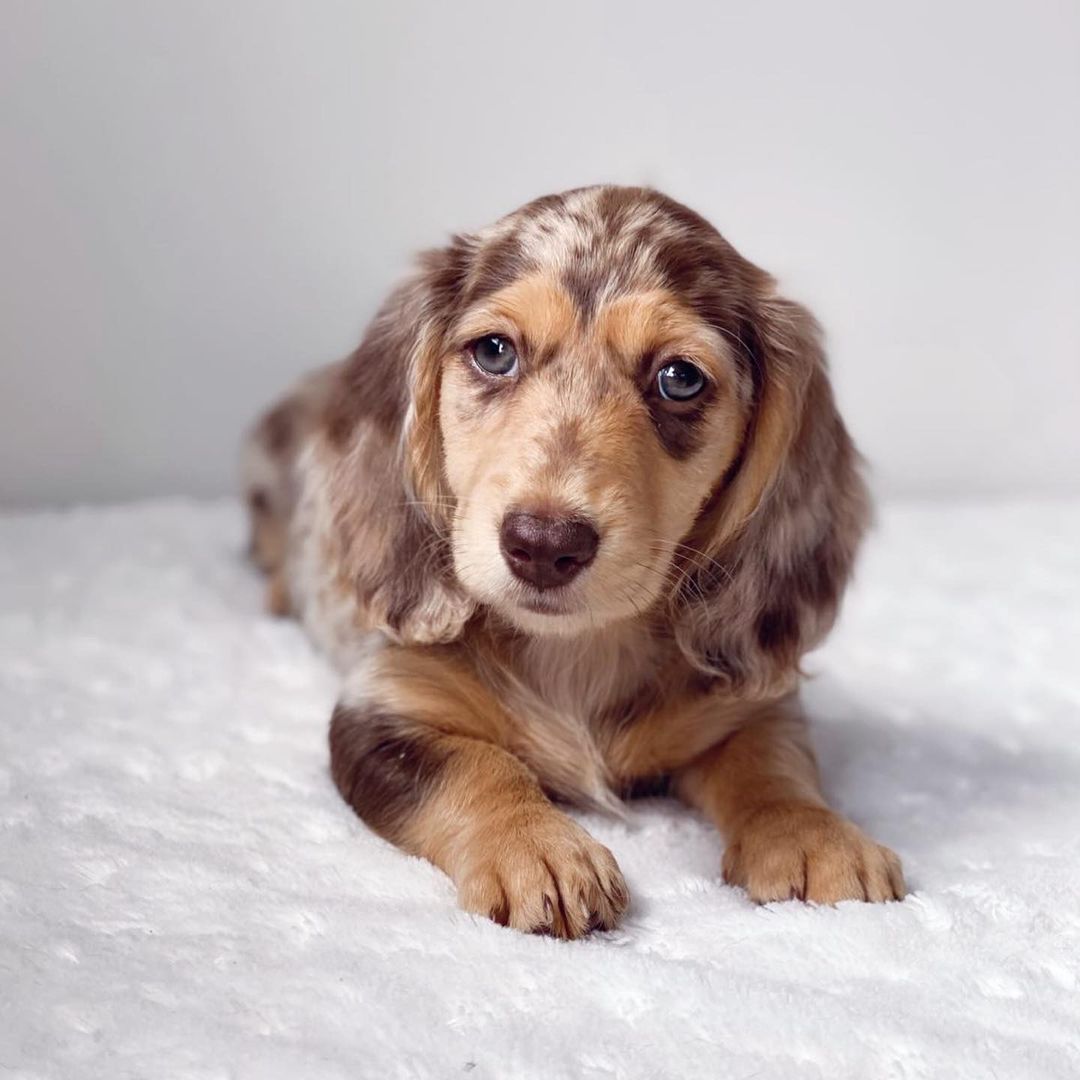
[[[531,635],[644,618],[765,687],[831,624],[865,517],[812,318],[645,189],[546,197],[429,253],[349,362],[343,458],[362,420],[409,510],[369,508],[374,543],[348,471],[335,498],[397,579],[404,639],[478,608]],[[416,611],[438,632],[404,632]]]

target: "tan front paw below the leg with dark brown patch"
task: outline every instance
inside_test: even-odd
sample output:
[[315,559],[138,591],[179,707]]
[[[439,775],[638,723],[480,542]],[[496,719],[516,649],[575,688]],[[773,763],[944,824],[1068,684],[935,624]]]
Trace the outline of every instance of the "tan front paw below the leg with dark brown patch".
[[458,903],[502,926],[556,937],[610,930],[630,902],[615,856],[555,809],[482,833],[457,875]]

